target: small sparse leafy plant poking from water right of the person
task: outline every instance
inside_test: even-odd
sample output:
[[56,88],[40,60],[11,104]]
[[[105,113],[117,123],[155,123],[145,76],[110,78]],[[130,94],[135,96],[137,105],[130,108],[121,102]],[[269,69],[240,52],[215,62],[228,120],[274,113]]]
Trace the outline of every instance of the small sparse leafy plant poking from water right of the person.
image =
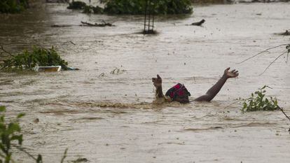
[[[249,99],[245,99],[242,112],[244,111],[275,111],[279,109],[277,99],[275,97],[266,97],[265,88],[267,85],[259,88],[258,91],[251,93]],[[268,87],[270,88],[270,87]]]

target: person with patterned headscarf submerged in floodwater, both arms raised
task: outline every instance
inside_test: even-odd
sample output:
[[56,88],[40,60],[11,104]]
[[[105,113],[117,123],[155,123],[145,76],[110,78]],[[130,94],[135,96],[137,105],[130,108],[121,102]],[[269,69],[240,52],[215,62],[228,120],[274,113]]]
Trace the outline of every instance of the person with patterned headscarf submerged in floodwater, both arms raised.
[[[214,99],[216,94],[219,93],[221,87],[223,87],[223,84],[226,83],[228,78],[236,78],[237,76],[239,76],[238,71],[235,69],[230,71],[230,67],[228,67],[223,72],[223,76],[219,79],[219,81],[214,86],[212,86],[205,95],[198,97],[194,101],[211,101]],[[186,90],[184,85],[178,83],[177,85],[174,85],[174,87],[170,88],[170,90],[167,90],[166,94],[164,95],[162,91],[162,78],[157,75],[157,78],[152,78],[152,82],[156,87],[156,100],[158,102],[178,101],[183,104],[189,103],[188,97],[191,96],[191,94],[188,92],[188,90]]]

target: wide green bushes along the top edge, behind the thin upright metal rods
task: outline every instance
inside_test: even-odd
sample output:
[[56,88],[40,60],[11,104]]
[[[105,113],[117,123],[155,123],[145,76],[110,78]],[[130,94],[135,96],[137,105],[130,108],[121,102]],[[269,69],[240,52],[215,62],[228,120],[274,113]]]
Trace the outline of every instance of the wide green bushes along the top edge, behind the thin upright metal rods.
[[[106,13],[106,14],[131,14],[141,15],[144,14],[146,0],[103,0],[105,4],[104,9],[99,6],[87,6],[80,1],[69,3],[69,9],[80,9],[83,13]],[[156,14],[188,14],[192,13],[193,7],[191,0],[152,0],[152,12]]]

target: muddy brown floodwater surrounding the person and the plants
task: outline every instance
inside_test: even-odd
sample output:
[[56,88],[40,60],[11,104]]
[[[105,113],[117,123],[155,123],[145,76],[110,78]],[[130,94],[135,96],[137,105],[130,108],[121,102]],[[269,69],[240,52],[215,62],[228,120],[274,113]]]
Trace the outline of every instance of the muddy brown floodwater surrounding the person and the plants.
[[[290,73],[285,58],[258,76],[284,47],[237,64],[289,36],[289,3],[195,7],[190,16],[157,17],[158,35],[136,34],[141,16],[85,15],[47,4],[23,15],[1,15],[0,43],[18,52],[32,44],[55,45],[80,71],[0,73],[0,104],[8,116],[26,113],[24,146],[45,162],[289,162],[289,121],[279,111],[241,113],[235,99],[258,87],[290,114]],[[205,19],[203,27],[186,26]],[[116,27],[62,27],[106,20]],[[68,43],[74,42],[76,45]],[[210,103],[154,105],[151,78],[163,91],[184,83],[204,94],[226,67],[240,71]],[[120,73],[111,73],[113,69]],[[116,72],[116,71],[115,71]],[[104,76],[100,76],[100,74]],[[39,122],[34,120],[39,118]],[[33,162],[25,154],[15,158]]]

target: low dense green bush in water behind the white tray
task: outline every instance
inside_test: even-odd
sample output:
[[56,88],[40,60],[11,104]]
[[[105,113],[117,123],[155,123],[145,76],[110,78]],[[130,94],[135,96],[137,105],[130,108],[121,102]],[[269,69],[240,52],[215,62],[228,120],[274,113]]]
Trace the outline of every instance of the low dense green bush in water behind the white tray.
[[62,69],[67,70],[67,62],[57,54],[57,51],[53,47],[46,49],[34,46],[31,51],[24,50],[18,55],[10,55],[11,59],[4,60],[1,70],[32,70],[37,65],[62,66]]

